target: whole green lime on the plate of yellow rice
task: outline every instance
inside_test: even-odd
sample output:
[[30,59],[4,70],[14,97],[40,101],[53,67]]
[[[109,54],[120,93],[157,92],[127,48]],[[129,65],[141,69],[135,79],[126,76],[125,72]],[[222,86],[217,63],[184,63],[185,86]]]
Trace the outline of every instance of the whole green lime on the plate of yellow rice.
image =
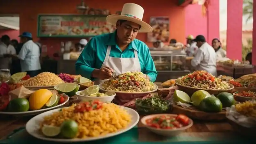
[[66,120],[60,126],[60,134],[68,139],[76,137],[78,124],[74,120]]

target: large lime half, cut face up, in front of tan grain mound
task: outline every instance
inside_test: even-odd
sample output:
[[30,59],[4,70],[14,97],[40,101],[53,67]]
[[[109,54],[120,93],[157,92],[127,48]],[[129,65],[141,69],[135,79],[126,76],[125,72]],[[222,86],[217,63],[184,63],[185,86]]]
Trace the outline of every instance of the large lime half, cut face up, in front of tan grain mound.
[[65,93],[66,95],[73,96],[79,90],[79,84],[75,83],[61,83],[54,86],[54,89],[57,90],[60,94]]

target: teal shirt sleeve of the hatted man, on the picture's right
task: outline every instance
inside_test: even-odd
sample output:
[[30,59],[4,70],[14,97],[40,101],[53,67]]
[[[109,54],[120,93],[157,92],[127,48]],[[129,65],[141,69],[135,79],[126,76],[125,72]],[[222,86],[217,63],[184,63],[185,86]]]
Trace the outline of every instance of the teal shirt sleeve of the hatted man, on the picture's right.
[[156,76],[157,76],[157,72],[156,72],[156,67],[155,67],[155,63],[151,57],[151,54],[149,52],[148,46],[145,45],[145,65],[144,68],[142,70],[142,73],[146,74],[151,82],[155,82],[156,81]]

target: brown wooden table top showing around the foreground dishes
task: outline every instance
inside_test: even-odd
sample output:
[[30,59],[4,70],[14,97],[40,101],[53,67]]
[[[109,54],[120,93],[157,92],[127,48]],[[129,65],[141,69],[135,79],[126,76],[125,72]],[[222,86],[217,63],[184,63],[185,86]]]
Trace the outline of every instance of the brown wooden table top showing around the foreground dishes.
[[[140,116],[140,118],[143,116]],[[5,139],[8,134],[13,132],[15,129],[18,129],[28,122],[31,117],[20,117],[15,118],[11,116],[1,116],[0,119],[0,138],[1,140]],[[232,126],[227,122],[200,122],[194,121],[194,125],[187,129],[186,132],[181,133],[182,139],[186,137],[187,139],[190,138],[197,138],[200,140],[204,140],[207,138],[216,138],[216,139],[226,139],[230,137],[232,139]],[[161,137],[159,135],[150,132],[143,124],[139,122],[138,124],[138,133],[139,133],[139,141],[172,141],[165,137]],[[177,141],[177,140],[175,140]],[[182,141],[182,140],[181,140]]]

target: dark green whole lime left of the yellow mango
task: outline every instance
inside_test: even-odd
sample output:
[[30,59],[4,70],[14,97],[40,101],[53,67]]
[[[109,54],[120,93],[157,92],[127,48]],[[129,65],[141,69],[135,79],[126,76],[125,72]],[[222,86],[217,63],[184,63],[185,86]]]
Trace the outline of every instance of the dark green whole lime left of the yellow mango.
[[24,112],[28,111],[29,102],[24,98],[17,98],[10,101],[8,104],[8,111],[10,112]]

